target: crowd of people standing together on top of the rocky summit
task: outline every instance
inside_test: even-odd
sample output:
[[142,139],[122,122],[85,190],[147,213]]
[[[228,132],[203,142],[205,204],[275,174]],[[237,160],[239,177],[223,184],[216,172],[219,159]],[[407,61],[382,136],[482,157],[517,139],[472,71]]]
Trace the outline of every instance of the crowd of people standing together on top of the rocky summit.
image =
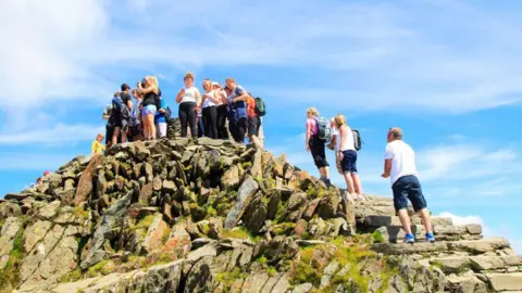
[[[192,138],[228,140],[232,137],[236,143],[245,143],[248,138],[251,143],[263,146],[260,132],[262,135],[261,119],[265,112],[260,98],[253,98],[234,78],[227,78],[224,87],[204,79],[202,89],[203,93],[195,86],[192,73],[184,76],[184,87],[175,98],[182,138],[186,138],[190,129]],[[92,142],[92,154],[116,143],[165,138],[167,124],[173,118],[154,76],[146,76],[133,90],[123,84],[102,117],[108,120],[107,131]]]

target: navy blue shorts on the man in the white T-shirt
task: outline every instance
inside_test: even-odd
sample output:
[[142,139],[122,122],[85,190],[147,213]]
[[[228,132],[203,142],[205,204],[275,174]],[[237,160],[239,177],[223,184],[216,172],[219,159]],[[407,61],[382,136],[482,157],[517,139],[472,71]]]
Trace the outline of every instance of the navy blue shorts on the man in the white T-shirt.
[[395,212],[408,208],[408,200],[410,200],[413,209],[417,212],[426,208],[426,200],[422,194],[421,183],[417,176],[408,175],[400,177],[391,186],[394,191]]

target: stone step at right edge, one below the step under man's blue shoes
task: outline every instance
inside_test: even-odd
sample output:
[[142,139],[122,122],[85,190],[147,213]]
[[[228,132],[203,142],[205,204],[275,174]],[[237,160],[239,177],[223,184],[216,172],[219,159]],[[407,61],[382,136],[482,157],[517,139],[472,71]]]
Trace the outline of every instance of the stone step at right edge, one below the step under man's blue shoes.
[[474,272],[517,272],[522,266],[522,256],[448,256],[426,259],[430,265],[439,267],[445,273]]

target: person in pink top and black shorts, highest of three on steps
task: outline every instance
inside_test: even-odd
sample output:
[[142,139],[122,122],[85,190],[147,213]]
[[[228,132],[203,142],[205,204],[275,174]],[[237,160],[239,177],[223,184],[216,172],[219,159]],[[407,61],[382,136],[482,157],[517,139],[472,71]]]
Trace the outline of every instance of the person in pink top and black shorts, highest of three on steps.
[[307,152],[312,153],[313,163],[319,169],[321,180],[326,184],[331,184],[330,164],[324,153],[324,140],[319,137],[318,116],[319,112],[315,107],[309,107],[307,110],[306,149]]

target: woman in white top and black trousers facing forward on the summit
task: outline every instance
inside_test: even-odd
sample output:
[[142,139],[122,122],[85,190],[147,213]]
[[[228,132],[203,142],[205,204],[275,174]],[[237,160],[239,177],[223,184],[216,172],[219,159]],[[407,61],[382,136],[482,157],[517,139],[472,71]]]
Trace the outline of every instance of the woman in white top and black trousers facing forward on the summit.
[[190,135],[196,138],[197,130],[197,112],[200,111],[201,94],[198,88],[194,86],[194,74],[187,73],[183,78],[185,87],[183,87],[176,97],[176,102],[179,104],[179,123],[182,124],[182,138],[187,137],[187,125],[190,127]]

